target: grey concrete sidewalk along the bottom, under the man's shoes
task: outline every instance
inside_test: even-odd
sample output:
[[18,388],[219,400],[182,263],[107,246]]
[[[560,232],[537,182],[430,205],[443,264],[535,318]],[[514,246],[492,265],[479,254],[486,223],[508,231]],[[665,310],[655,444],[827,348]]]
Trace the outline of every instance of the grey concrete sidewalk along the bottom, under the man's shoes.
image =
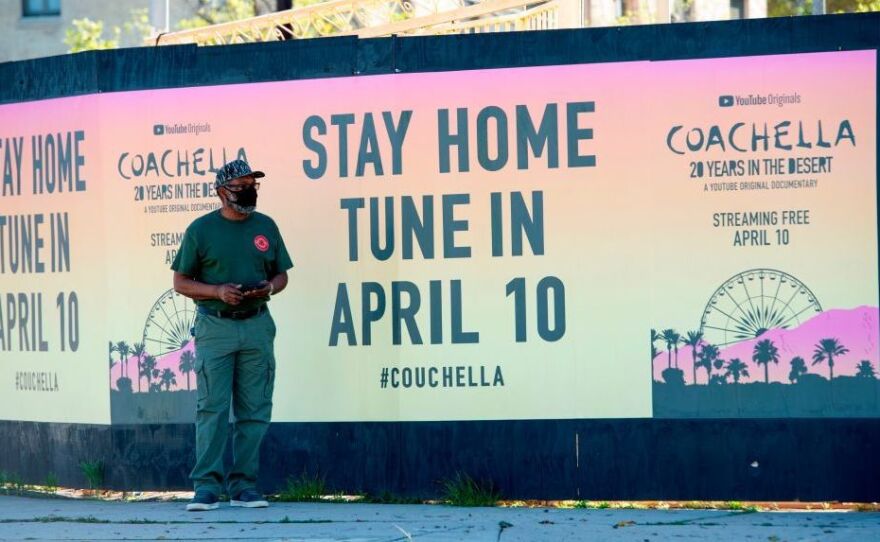
[[880,540],[880,513],[289,504],[192,513],[183,502],[0,497],[2,540]]

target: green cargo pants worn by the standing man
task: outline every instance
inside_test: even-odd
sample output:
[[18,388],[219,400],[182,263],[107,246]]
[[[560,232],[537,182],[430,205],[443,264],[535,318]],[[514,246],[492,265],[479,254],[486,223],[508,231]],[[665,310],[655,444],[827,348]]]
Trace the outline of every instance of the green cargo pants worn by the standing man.
[[[275,387],[275,322],[268,310],[245,320],[196,315],[196,491],[230,497],[255,488],[260,443],[272,417]],[[232,469],[223,455],[232,401]]]

